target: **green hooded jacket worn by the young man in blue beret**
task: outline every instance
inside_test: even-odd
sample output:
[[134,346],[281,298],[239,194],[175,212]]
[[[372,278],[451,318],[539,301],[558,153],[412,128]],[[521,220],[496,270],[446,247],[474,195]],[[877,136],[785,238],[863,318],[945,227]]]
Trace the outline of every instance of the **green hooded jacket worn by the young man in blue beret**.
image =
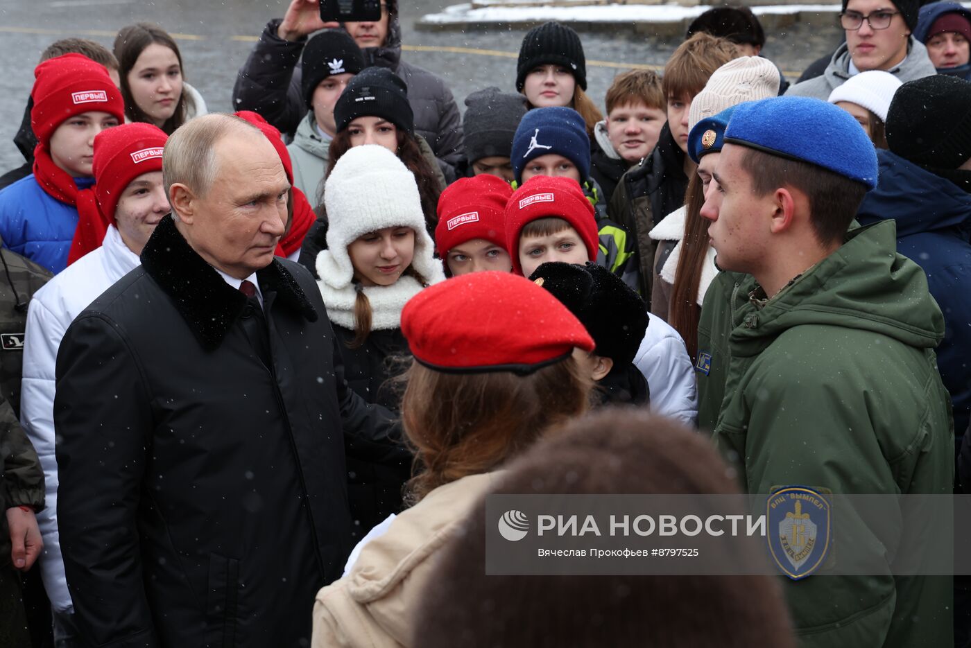
[[[852,230],[762,308],[735,308],[746,280],[729,285],[727,356],[712,339],[699,352],[708,344],[724,372],[714,442],[749,493],[951,493],[950,398],[933,350],[944,319],[921,268],[896,253],[893,221]],[[863,525],[852,541],[882,548]],[[953,643],[950,577],[825,571],[783,579],[802,646]]]

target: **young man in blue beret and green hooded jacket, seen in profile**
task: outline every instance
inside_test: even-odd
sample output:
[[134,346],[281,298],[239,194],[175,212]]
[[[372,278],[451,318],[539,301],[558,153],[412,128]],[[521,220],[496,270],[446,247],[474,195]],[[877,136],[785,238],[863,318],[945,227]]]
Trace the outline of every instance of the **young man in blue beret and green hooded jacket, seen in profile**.
[[[877,158],[838,110],[783,97],[728,123],[701,214],[720,267],[754,283],[737,284],[751,286],[749,306],[727,353],[699,339],[699,365],[724,368],[714,440],[752,494],[950,494],[954,433],[934,355],[944,319],[892,223],[847,231]],[[869,527],[852,541],[874,545],[882,573],[821,563],[784,579],[801,645],[951,645],[952,578],[892,575]]]

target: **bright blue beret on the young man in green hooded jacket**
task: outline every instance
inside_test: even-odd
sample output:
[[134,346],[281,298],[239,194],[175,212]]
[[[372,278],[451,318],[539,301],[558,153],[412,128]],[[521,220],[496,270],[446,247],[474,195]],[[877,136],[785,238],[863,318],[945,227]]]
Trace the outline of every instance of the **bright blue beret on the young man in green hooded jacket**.
[[724,141],[877,186],[877,150],[863,127],[820,99],[773,97],[736,106]]

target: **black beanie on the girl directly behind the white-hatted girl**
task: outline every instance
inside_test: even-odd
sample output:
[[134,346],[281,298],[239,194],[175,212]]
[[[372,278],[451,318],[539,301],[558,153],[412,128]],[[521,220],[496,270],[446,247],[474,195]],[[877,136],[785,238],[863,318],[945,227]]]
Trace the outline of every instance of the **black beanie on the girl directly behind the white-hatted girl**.
[[354,77],[334,106],[337,131],[357,117],[381,117],[406,133],[415,132],[415,113],[408,86],[387,68],[365,68]]

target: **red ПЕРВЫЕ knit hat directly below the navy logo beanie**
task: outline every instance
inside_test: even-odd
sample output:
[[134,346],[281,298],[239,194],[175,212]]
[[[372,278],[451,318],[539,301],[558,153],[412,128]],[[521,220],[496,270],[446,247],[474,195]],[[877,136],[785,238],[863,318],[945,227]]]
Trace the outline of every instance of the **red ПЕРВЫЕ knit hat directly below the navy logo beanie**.
[[534,176],[526,180],[506,204],[506,249],[513,258],[513,272],[519,266],[519,233],[526,223],[539,218],[562,218],[570,223],[586,245],[590,262],[597,260],[599,243],[593,206],[573,178]]

